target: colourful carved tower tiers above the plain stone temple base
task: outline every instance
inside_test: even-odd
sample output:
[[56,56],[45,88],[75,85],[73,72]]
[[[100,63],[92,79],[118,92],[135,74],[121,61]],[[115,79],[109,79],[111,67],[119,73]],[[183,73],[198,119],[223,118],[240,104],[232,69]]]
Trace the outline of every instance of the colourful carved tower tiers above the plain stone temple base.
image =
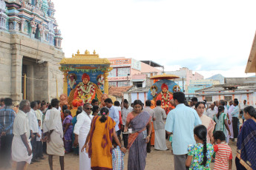
[[47,0],[0,0],[0,30],[22,33],[61,49],[62,36]]

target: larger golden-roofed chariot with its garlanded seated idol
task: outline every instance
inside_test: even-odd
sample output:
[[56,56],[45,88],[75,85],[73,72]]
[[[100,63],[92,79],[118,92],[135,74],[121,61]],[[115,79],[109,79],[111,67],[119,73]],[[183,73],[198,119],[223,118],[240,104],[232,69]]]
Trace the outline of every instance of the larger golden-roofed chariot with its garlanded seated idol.
[[111,62],[107,58],[99,58],[95,50],[90,54],[80,54],[79,50],[72,58],[63,58],[59,69],[63,72],[63,94],[60,96],[61,103],[68,103],[72,115],[78,106],[91,103],[97,99],[103,104],[108,96],[108,74],[111,71]]

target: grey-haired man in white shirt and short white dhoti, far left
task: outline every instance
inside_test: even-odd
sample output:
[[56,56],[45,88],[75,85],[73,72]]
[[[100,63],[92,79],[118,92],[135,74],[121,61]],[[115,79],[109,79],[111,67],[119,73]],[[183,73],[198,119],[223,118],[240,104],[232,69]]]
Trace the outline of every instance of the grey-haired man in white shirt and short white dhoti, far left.
[[13,123],[12,158],[17,162],[16,170],[23,170],[32,159],[32,147],[30,143],[30,126],[27,112],[30,112],[30,102],[21,101],[19,112]]

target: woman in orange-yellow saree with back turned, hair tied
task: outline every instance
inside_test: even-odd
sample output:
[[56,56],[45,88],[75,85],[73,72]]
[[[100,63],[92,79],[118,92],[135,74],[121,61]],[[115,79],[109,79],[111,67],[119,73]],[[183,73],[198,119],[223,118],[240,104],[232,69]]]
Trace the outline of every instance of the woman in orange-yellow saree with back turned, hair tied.
[[119,143],[114,130],[116,123],[108,117],[109,111],[106,107],[100,110],[100,116],[93,117],[91,130],[82,147],[91,157],[92,170],[112,170],[112,138],[116,141],[122,152],[126,149]]

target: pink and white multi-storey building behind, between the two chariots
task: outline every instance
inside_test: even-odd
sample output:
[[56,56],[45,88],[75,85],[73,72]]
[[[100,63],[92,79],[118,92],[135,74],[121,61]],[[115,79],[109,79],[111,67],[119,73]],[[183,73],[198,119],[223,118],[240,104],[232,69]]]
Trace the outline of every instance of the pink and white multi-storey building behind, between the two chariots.
[[108,60],[111,61],[111,67],[113,67],[108,75],[109,86],[145,87],[151,76],[161,72],[161,69],[156,68],[160,65],[153,61],[150,64],[156,67],[134,58],[108,58]]

